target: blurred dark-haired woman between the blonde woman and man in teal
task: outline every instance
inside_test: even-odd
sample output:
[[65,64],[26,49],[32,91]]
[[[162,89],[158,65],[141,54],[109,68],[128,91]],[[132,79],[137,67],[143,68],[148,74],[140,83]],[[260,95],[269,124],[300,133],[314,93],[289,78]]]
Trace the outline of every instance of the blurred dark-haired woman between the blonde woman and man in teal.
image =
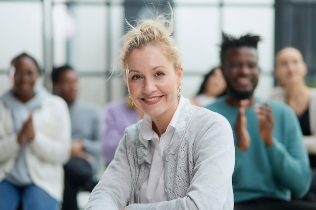
[[226,92],[226,81],[220,67],[214,67],[204,75],[199,91],[192,97],[191,103],[196,106],[206,106],[213,103],[217,97]]

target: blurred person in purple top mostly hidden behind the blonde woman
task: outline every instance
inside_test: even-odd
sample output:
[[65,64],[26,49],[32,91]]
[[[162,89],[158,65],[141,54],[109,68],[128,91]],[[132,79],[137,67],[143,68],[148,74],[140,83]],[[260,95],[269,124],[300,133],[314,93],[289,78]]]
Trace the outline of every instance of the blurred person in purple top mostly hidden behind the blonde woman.
[[102,152],[106,165],[113,160],[125,128],[142,119],[143,115],[144,112],[138,109],[128,96],[106,105],[101,128]]

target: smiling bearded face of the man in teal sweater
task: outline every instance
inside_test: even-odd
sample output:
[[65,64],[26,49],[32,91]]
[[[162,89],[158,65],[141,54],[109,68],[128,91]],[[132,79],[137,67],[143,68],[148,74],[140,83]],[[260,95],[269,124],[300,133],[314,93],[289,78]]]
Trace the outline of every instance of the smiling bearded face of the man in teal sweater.
[[223,63],[223,74],[228,91],[238,99],[250,98],[258,83],[260,69],[257,51],[253,47],[228,49]]

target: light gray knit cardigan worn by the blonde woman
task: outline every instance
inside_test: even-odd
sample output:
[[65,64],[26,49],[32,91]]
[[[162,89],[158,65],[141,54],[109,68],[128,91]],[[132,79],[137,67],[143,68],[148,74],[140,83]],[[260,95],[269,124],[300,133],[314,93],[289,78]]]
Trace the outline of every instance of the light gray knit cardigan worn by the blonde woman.
[[126,128],[114,160],[91,192],[86,210],[233,209],[235,148],[232,128],[222,115],[187,100],[171,144],[164,150],[168,201],[139,203],[139,188],[151,157],[139,140],[142,120]]

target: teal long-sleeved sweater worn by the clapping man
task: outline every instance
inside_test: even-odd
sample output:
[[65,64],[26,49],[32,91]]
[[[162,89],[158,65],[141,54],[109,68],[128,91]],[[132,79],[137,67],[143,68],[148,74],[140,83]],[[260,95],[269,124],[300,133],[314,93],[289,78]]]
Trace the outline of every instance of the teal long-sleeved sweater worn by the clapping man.
[[[260,100],[257,98],[256,103]],[[266,147],[259,134],[254,106],[249,107],[245,116],[250,147],[246,152],[238,150],[234,133],[236,164],[233,188],[236,203],[260,197],[290,200],[291,193],[302,197],[310,187],[311,171],[297,117],[289,106],[265,101],[271,105],[275,118],[275,143]],[[224,97],[206,108],[224,115],[234,127],[239,108],[229,106]]]

